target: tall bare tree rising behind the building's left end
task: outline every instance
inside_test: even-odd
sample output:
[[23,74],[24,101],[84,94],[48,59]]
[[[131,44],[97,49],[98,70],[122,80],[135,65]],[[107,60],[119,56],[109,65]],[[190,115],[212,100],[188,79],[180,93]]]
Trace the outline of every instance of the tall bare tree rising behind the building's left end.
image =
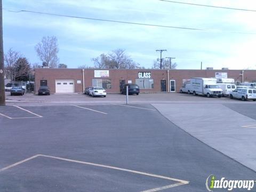
[[56,68],[59,62],[58,58],[58,39],[55,36],[43,37],[42,41],[35,46],[39,59],[45,62],[47,67]]

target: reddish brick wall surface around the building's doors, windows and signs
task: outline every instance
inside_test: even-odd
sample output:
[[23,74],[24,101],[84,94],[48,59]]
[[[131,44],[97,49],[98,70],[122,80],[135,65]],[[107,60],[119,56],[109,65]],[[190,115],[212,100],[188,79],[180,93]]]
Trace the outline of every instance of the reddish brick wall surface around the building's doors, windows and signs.
[[[131,80],[135,83],[138,78],[138,72],[151,72],[151,78],[154,79],[154,89],[145,89],[141,92],[159,92],[161,91],[161,80],[166,80],[166,90],[168,90],[169,83],[167,82],[166,69],[109,69],[109,77],[99,79],[110,79],[111,89],[107,92],[119,92],[119,80],[125,79],[125,83]],[[169,70],[169,79],[175,80],[176,91],[182,86],[182,79],[190,77],[215,77],[217,72],[228,73],[228,78],[234,78],[235,81],[242,82],[242,70]],[[47,80],[47,84],[52,93],[55,93],[55,79],[74,79],[75,92],[83,92],[83,71],[82,69],[35,69],[35,86],[36,92],[40,86],[40,80]],[[94,77],[94,69],[84,70],[84,87],[92,85]],[[80,80],[82,83],[78,84]],[[256,70],[244,70],[244,81],[251,82],[256,80]],[[170,85],[169,85],[170,86]]]

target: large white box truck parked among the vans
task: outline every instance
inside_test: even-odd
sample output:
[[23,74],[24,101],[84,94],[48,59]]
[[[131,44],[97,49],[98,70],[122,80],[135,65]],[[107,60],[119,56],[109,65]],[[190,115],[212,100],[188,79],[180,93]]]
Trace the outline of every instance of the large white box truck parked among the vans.
[[206,95],[207,98],[217,96],[222,96],[222,89],[217,85],[216,78],[201,78],[201,77],[193,77],[190,78],[190,90],[189,93],[193,93],[194,95],[201,94]]

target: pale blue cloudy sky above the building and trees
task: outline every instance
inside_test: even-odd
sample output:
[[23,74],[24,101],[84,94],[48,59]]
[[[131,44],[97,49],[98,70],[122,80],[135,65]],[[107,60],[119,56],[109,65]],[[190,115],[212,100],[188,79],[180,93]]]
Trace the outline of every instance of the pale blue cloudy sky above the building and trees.
[[[254,0],[180,0],[180,2],[256,10]],[[11,47],[31,64],[41,63],[35,45],[43,36],[56,36],[60,63],[68,68],[93,66],[92,58],[124,49],[140,66],[151,68],[175,57],[177,69],[256,69],[256,12],[217,9],[159,0],[3,0],[4,51]],[[205,29],[187,30],[139,26],[52,15],[9,12],[7,9],[66,14],[153,25]],[[243,32],[243,33],[239,33]],[[254,33],[254,34],[246,34]]]

